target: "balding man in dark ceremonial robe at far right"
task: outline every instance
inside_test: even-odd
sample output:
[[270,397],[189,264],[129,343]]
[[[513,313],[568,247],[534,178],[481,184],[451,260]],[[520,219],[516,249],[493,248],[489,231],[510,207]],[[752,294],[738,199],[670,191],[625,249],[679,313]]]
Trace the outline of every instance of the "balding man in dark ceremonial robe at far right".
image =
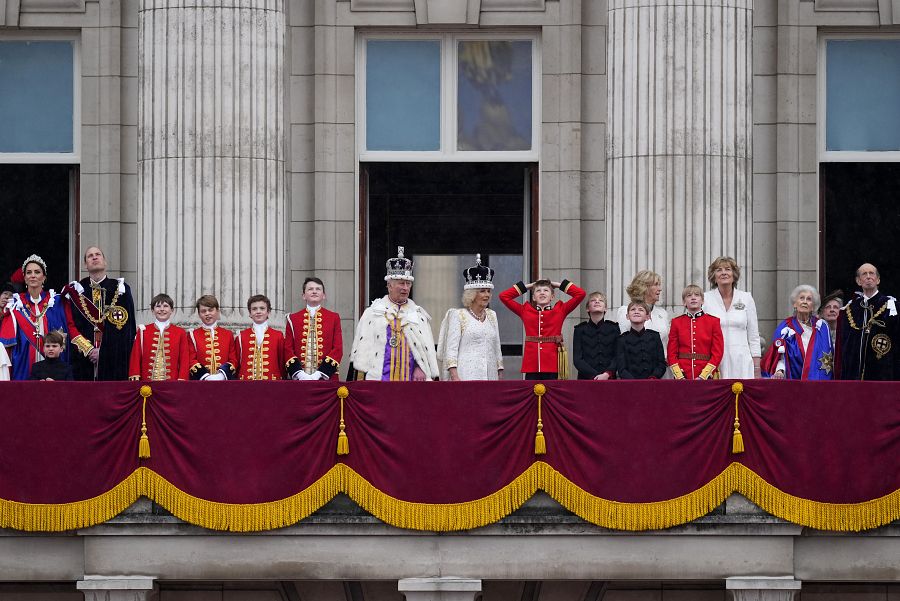
[[839,380],[900,379],[900,317],[896,299],[878,290],[881,276],[871,263],[856,270],[862,288],[841,310],[835,349]]

